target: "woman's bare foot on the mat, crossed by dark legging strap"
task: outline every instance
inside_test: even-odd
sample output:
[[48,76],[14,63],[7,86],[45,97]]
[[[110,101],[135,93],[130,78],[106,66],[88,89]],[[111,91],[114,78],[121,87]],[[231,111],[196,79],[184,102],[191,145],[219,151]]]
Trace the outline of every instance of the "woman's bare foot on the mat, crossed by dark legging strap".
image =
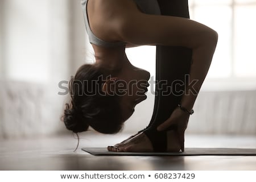
[[[179,140],[175,131],[167,132],[167,151],[180,151]],[[115,146],[109,146],[109,151],[113,152],[152,152],[154,151],[150,139],[144,133],[139,133],[134,137],[124,140]]]

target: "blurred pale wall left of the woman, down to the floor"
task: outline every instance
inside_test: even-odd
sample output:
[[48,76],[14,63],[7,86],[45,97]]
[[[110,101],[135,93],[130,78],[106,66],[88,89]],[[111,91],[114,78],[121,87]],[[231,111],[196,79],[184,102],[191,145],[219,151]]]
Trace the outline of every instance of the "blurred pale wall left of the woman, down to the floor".
[[80,0],[1,0],[0,26],[0,137],[65,131],[58,84],[85,61]]

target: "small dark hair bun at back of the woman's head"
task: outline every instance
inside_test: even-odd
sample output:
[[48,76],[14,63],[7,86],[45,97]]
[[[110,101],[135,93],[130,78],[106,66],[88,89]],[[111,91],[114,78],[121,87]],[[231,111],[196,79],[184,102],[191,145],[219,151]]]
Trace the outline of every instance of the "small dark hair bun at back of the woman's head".
[[89,124],[86,122],[86,118],[83,116],[82,111],[76,110],[69,104],[66,104],[63,121],[66,128],[73,131],[74,133],[86,131],[89,127]]

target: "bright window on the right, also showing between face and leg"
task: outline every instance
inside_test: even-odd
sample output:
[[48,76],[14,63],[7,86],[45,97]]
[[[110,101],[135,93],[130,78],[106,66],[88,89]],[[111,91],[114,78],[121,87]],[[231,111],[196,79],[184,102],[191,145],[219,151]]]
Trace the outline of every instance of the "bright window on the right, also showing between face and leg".
[[[256,88],[256,0],[188,0],[190,18],[218,32],[218,45],[204,88]],[[144,51],[139,53],[139,51]],[[127,50],[138,67],[154,73],[155,50]]]

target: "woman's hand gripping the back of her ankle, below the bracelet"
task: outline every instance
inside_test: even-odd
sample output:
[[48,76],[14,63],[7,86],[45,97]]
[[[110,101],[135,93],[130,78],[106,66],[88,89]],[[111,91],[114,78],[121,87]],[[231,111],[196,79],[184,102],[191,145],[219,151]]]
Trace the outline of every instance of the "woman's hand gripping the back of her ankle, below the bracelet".
[[181,151],[184,152],[184,133],[188,126],[189,114],[177,107],[170,118],[158,126],[158,131],[168,130],[174,127],[179,138]]

